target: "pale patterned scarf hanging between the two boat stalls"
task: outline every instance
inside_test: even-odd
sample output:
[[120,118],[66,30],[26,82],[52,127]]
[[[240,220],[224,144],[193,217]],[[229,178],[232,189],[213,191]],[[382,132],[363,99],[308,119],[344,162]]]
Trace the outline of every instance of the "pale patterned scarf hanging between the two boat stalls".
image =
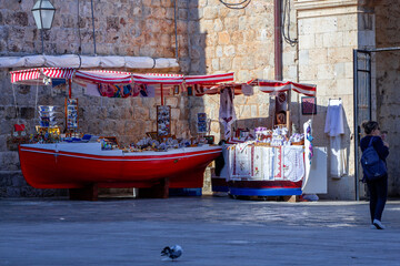
[[226,88],[220,94],[219,121],[224,127],[224,140],[231,136],[231,124],[237,120],[233,106],[233,92],[232,88]]

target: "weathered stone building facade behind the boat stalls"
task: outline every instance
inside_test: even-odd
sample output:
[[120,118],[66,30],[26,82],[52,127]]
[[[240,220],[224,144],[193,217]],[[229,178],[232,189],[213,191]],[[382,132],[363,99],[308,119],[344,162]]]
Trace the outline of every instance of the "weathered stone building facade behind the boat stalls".
[[[57,8],[53,27],[44,34],[48,54],[93,54],[90,0],[52,1]],[[93,0],[97,54],[152,58],[176,57],[174,18],[179,70],[183,74],[223,73],[233,71],[237,82],[250,79],[274,79],[273,0],[252,0],[243,10],[230,10],[218,0]],[[286,2],[286,1],[283,1]],[[290,0],[289,32],[296,45],[282,44],[283,80],[318,85],[318,114],[301,115],[301,95],[291,96],[291,119],[300,125],[313,119],[314,145],[328,146],[323,132],[329,99],[341,98],[346,113],[344,150],[347,175],[329,178],[327,198],[354,198],[353,143],[353,49],[393,47],[398,38],[392,32],[399,24],[394,1],[360,0]],[[391,4],[390,4],[391,3]],[[0,0],[0,55],[41,53],[40,32],[30,9],[33,1]],[[393,7],[396,6],[396,7]],[[62,11],[62,12],[61,12]],[[79,24],[79,28],[78,28]],[[284,24],[283,27],[286,27]],[[22,41],[21,41],[22,40]],[[81,45],[80,45],[81,43]],[[81,48],[81,49],[80,49]],[[382,127],[389,130],[392,155],[389,157],[390,194],[398,195],[399,177],[394,167],[398,147],[399,99],[396,85],[399,53],[379,53],[373,61],[373,112]],[[374,71],[377,70],[377,71]],[[129,70],[143,71],[143,70]],[[146,72],[149,72],[146,70]],[[17,101],[13,100],[13,90]],[[43,86],[11,86],[8,70],[0,72],[0,196],[37,195],[20,174],[18,154],[9,151],[6,141],[11,126],[26,123],[33,130],[37,104],[63,106],[64,92]],[[38,91],[38,98],[36,98]],[[73,86],[79,99],[82,132],[117,135],[128,144],[156,130],[156,105],[159,99],[96,99],[83,95]],[[36,102],[36,99],[38,99]],[[260,92],[251,98],[234,99],[238,122],[234,127],[272,125],[274,99]],[[16,109],[17,104],[17,109]],[[167,98],[172,106],[172,133],[196,135],[194,117],[206,112],[211,119],[211,133],[219,141],[219,98]],[[18,113],[17,111],[18,110]],[[328,160],[329,162],[329,160]],[[361,187],[362,190],[362,187]],[[46,195],[57,193],[51,191]]]

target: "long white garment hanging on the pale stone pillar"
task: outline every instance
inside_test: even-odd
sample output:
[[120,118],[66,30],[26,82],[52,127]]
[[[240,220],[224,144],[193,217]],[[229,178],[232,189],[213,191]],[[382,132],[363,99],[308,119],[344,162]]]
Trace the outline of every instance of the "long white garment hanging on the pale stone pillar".
[[341,177],[346,174],[346,155],[342,149],[344,111],[341,100],[329,100],[324,133],[330,136],[330,174],[332,177]]

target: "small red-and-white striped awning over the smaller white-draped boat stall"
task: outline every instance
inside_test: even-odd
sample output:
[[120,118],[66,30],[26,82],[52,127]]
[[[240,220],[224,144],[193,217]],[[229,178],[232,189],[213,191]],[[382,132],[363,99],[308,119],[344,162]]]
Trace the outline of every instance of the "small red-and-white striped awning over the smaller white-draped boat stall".
[[298,93],[304,94],[307,96],[316,96],[317,85],[313,84],[301,84],[294,83],[291,81],[272,81],[272,80],[251,80],[248,82],[249,85],[260,86],[260,91],[266,93],[273,92],[287,92],[293,90]]

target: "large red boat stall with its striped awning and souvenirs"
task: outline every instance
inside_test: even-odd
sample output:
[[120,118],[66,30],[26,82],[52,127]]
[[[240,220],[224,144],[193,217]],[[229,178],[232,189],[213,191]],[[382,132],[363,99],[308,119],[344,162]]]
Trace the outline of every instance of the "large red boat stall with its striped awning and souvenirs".
[[[66,124],[70,136],[44,132],[40,139],[19,146],[21,171],[27,182],[37,188],[70,188],[70,197],[97,200],[97,187],[136,187],[139,196],[168,197],[169,188],[202,187],[203,172],[221,154],[221,146],[199,141],[178,140],[171,135],[170,112],[163,105],[163,94],[188,85],[209,88],[233,81],[233,73],[183,76],[178,74],[132,74],[116,71],[83,71],[60,68],[11,72],[17,84],[49,84],[52,79],[71,80],[87,86],[92,95],[129,98],[152,93],[161,96],[158,106],[158,131],[149,132],[138,143],[120,149],[112,137],[94,137],[73,133],[77,102],[69,93]],[[186,79],[186,80],[184,80]],[[72,105],[72,103],[74,105]],[[48,110],[46,108],[41,108]],[[71,111],[71,112],[69,112]],[[43,124],[44,125],[44,124]],[[46,124],[48,125],[48,124]]]

